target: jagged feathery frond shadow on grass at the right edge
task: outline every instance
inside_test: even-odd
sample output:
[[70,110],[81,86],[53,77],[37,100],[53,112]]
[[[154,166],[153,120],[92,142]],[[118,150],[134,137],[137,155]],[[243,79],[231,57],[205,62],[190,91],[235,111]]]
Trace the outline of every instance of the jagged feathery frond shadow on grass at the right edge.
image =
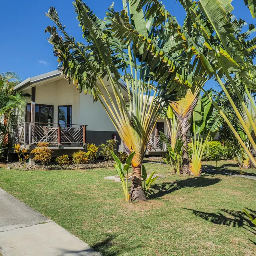
[[[242,211],[233,211],[233,210],[227,210],[227,209],[219,209],[218,213],[212,213],[212,212],[201,212],[193,209],[183,208],[189,211],[192,211],[192,213],[195,216],[198,216],[204,220],[210,221],[214,224],[218,225],[226,225],[226,226],[232,226],[232,227],[242,227],[242,228],[250,228],[250,232],[256,234],[256,230],[254,229],[254,224],[247,218],[247,216]],[[254,212],[254,211],[252,211]],[[230,217],[225,216],[224,214],[230,215]],[[248,230],[248,229],[247,229]]]

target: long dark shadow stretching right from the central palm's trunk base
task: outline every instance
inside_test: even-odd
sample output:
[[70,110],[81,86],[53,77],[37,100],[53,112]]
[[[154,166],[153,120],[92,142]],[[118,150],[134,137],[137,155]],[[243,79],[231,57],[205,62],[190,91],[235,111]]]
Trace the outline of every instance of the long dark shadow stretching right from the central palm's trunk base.
[[175,182],[163,182],[162,184],[155,184],[151,187],[151,190],[148,192],[149,199],[162,197],[166,194],[170,194],[176,190],[182,188],[202,188],[214,185],[220,182],[219,178],[188,178],[186,180],[177,180]]

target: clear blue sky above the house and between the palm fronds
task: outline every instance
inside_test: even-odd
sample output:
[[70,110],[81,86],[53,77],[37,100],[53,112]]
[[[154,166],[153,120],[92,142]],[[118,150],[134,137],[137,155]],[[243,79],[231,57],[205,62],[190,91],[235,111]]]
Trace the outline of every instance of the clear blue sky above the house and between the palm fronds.
[[[85,0],[86,4],[99,18],[104,18],[105,12],[112,4],[111,0]],[[176,0],[163,0],[166,9],[175,15],[179,23],[183,22],[184,9]],[[250,11],[244,6],[242,0],[233,0],[233,14],[243,18],[247,23],[256,24]],[[44,0],[44,1],[2,1],[0,30],[1,61],[0,72],[14,71],[22,79],[36,76],[55,70],[56,58],[52,54],[52,46],[46,40],[44,29],[52,22],[44,12],[54,6],[60,16],[60,21],[66,26],[67,32],[82,41],[72,0]],[[122,10],[122,0],[116,0],[115,10]],[[215,86],[213,81],[208,82],[207,89]]]

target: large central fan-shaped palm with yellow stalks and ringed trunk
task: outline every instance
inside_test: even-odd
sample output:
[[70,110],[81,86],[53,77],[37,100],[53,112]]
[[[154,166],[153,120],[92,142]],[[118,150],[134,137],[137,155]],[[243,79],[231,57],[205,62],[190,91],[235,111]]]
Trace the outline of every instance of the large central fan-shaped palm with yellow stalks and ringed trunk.
[[[123,4],[121,12],[110,6],[105,20],[100,20],[81,0],[73,3],[85,43],[66,33],[53,7],[46,16],[62,36],[54,26],[48,26],[46,32],[50,33],[48,41],[62,74],[68,82],[73,80],[80,92],[92,94],[94,100],[101,102],[126,153],[136,152],[132,159],[130,200],[146,200],[141,166],[162,103],[170,100],[177,86],[192,87],[194,81],[179,64],[185,51],[165,50],[171,35],[166,38],[164,26],[152,27],[152,18],[144,18],[136,4]],[[124,82],[122,86],[120,80]]]

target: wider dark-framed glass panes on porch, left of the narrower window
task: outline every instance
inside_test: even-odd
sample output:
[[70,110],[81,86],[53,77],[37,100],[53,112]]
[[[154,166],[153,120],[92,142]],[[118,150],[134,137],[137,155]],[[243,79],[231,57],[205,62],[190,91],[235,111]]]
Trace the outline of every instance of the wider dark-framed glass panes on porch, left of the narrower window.
[[[26,122],[31,122],[31,105],[26,105]],[[53,123],[53,106],[36,104],[35,106],[35,122],[43,123],[40,125],[50,125]]]

